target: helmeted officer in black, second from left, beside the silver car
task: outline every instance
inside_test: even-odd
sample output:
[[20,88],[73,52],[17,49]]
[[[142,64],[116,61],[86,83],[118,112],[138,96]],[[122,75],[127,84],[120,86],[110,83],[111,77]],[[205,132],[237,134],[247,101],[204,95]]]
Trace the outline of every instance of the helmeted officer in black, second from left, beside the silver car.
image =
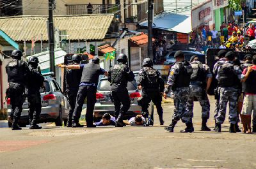
[[36,122],[41,114],[41,94],[40,88],[44,85],[44,77],[38,70],[38,58],[32,56],[29,58],[29,79],[28,79],[28,107],[29,107],[29,123],[30,129],[41,129]]

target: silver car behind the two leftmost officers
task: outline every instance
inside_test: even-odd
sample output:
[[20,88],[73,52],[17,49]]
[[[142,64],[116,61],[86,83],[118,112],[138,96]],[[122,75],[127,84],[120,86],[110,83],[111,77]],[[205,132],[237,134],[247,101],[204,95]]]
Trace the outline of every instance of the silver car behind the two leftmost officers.
[[[39,122],[55,122],[56,126],[62,126],[63,121],[66,126],[68,117],[68,100],[61,91],[60,86],[52,77],[45,77],[44,81],[45,91],[41,89],[41,103],[42,112],[40,114]],[[8,105],[8,126],[12,127],[12,120],[10,119],[10,98],[7,99]],[[28,115],[28,99],[22,105],[22,114],[20,116],[19,125],[26,126],[29,124]]]

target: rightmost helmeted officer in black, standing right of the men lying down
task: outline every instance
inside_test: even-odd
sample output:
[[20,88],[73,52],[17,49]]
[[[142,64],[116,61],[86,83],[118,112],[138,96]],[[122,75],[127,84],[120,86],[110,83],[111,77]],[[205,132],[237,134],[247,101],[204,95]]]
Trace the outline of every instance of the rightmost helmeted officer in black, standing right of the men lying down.
[[151,100],[154,105],[156,105],[160,125],[163,125],[163,108],[161,102],[164,92],[164,81],[161,78],[161,73],[153,68],[151,59],[145,58],[142,66],[143,68],[138,75],[138,89],[142,90],[141,112],[146,120],[144,126],[150,125],[150,120],[148,119],[148,105]]

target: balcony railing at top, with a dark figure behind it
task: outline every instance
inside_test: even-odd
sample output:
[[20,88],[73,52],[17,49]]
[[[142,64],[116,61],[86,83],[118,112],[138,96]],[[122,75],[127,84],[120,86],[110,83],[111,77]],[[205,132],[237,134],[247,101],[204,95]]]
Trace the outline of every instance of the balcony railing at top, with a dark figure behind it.
[[116,13],[120,10],[118,4],[66,4],[67,15]]

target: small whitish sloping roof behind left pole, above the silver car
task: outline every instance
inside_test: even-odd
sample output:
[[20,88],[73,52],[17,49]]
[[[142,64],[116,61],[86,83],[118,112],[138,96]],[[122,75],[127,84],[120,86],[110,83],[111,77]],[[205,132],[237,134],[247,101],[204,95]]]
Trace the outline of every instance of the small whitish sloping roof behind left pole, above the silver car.
[[[66,54],[67,54],[67,52],[65,52],[61,48],[56,48],[54,50],[55,65],[63,63],[64,62],[64,57],[65,57]],[[40,66],[41,70],[47,70],[47,69],[50,68],[49,51],[42,52],[42,53],[39,53],[39,54],[35,54],[33,56],[38,57],[39,66]]]

